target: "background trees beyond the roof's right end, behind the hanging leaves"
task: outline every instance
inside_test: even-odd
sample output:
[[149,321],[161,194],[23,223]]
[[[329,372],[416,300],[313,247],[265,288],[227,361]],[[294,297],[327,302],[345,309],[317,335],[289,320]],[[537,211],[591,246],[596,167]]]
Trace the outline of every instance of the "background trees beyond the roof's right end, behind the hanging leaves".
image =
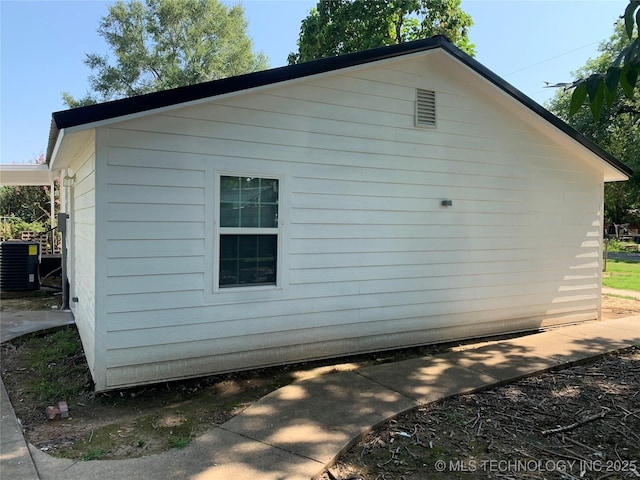
[[[599,47],[600,55],[590,59],[575,72],[576,76],[604,74],[612,60],[628,45],[625,26],[618,23],[614,34]],[[627,182],[605,185],[605,220],[608,223],[640,223],[640,98],[629,98],[618,86],[611,103],[601,106],[594,119],[589,109],[582,108],[569,116],[573,102],[569,91],[558,91],[548,108],[572,127],[631,167],[633,176]]]

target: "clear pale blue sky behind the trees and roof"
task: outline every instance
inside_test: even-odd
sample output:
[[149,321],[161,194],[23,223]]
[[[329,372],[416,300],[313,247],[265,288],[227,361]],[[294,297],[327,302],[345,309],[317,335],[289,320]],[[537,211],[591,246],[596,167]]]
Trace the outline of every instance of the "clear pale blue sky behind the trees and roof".
[[[24,163],[46,151],[51,113],[64,110],[62,92],[88,92],[86,53],[105,54],[98,35],[104,0],[0,0],[0,163]],[[300,22],[316,1],[240,0],[248,34],[271,67],[296,50]],[[463,0],[474,26],[476,60],[536,102],[554,94],[545,82],[596,57],[627,0]]]

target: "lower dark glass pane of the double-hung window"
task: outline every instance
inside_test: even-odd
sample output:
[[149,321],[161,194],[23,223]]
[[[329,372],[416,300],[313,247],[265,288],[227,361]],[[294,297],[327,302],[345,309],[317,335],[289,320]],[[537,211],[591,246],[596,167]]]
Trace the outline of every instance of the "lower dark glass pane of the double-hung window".
[[275,285],[277,235],[221,235],[220,287]]

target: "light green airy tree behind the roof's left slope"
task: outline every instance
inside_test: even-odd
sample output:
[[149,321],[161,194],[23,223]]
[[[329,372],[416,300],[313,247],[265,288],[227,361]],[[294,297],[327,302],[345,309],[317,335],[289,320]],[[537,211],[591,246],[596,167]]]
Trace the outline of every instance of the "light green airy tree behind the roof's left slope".
[[268,68],[253,53],[244,9],[218,0],[119,0],[98,33],[111,55],[86,55],[92,92],[82,99],[63,93],[70,107]]

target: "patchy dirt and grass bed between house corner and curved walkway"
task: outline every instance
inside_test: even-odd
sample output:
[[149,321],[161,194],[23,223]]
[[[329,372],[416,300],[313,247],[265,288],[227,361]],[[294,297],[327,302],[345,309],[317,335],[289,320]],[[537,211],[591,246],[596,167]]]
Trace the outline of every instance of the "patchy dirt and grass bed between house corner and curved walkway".
[[[79,461],[184,448],[296,378],[286,366],[96,394],[75,326],[1,347],[2,379],[27,440],[50,455]],[[48,421],[46,407],[61,400],[71,418]]]

